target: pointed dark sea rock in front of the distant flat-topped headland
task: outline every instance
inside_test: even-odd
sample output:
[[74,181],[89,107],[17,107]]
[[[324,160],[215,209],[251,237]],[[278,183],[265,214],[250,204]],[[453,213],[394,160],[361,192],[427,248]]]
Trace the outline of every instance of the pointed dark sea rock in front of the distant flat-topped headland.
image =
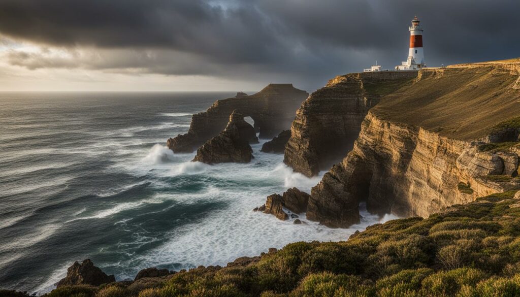
[[244,121],[236,110],[229,116],[229,122],[217,136],[207,140],[197,150],[193,161],[206,164],[236,162],[249,163],[253,158],[250,143],[258,143],[253,126]]

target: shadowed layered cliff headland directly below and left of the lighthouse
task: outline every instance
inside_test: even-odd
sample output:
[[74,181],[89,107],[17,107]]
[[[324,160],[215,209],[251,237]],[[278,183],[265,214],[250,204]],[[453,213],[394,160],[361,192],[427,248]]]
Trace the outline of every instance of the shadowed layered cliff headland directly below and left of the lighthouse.
[[361,122],[380,98],[417,77],[415,71],[337,76],[296,112],[284,162],[307,176],[328,170],[352,149]]

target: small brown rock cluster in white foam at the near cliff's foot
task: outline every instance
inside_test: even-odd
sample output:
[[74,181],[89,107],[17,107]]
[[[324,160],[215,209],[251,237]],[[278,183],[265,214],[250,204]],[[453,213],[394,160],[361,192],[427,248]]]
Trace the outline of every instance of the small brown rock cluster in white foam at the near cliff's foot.
[[[309,197],[309,194],[302,192],[297,188],[291,188],[283,192],[283,195],[273,194],[267,196],[265,204],[259,208],[255,208],[253,211],[262,211],[267,214],[272,214],[282,221],[285,221],[289,218],[289,215],[283,210],[283,208],[286,208],[293,213],[303,213],[307,210]],[[297,217],[297,215],[291,214],[291,218]]]

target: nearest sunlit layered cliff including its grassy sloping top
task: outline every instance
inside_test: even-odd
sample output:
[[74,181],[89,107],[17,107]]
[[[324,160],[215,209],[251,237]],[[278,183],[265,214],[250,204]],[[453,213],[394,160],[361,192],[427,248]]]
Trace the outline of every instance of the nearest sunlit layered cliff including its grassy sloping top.
[[368,113],[353,150],[312,189],[307,218],[347,227],[360,201],[427,217],[520,187],[518,74],[501,64],[422,70]]

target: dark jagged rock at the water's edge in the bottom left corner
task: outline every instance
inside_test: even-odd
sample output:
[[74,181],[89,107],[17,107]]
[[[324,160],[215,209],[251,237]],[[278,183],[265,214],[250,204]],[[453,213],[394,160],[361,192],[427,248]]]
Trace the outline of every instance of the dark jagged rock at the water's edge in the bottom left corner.
[[103,283],[109,283],[115,281],[114,275],[107,275],[94,266],[94,263],[90,259],[83,260],[81,264],[74,262],[72,266],[67,269],[67,276],[62,278],[56,287],[68,286],[68,285],[92,285],[99,286]]

